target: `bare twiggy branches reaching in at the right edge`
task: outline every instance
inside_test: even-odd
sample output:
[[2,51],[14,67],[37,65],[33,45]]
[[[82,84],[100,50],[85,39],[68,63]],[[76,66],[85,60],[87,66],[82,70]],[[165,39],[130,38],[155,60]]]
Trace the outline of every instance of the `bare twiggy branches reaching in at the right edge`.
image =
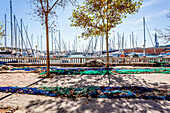
[[[168,19],[170,19],[170,10],[169,10],[168,13],[166,14],[166,17],[167,17]],[[159,34],[158,37],[164,39],[164,43],[170,42],[170,26],[167,26],[167,27],[165,28],[165,31],[166,31],[166,32],[163,32],[163,31],[160,30],[160,29],[156,29],[156,31],[157,31],[158,34]]]

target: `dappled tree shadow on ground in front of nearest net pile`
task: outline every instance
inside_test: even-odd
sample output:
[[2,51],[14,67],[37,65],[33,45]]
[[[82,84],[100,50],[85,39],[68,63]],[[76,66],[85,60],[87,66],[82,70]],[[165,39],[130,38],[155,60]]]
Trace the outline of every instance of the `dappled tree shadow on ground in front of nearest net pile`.
[[25,109],[30,113],[36,112],[37,110],[43,113],[146,113],[148,111],[169,112],[170,109],[168,106],[170,106],[170,103],[166,101],[159,103],[154,100],[144,99],[93,98],[91,101],[88,101],[87,98],[72,100],[59,97],[57,99],[37,99],[30,101]]

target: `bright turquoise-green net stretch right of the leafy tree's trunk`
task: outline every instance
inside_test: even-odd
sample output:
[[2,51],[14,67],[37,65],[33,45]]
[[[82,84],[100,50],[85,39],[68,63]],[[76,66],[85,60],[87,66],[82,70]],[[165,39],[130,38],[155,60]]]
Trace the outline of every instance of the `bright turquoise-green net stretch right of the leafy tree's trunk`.
[[141,73],[165,73],[170,74],[170,68],[161,69],[117,69],[119,74],[141,74]]

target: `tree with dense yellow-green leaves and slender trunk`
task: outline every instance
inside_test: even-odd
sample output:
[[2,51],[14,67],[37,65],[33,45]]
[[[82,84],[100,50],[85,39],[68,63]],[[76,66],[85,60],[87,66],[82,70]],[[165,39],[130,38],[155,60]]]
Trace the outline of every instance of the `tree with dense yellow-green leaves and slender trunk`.
[[107,67],[109,67],[108,38],[109,31],[122,23],[127,14],[135,14],[142,0],[85,0],[83,6],[73,10],[71,26],[85,29],[82,38],[106,35]]

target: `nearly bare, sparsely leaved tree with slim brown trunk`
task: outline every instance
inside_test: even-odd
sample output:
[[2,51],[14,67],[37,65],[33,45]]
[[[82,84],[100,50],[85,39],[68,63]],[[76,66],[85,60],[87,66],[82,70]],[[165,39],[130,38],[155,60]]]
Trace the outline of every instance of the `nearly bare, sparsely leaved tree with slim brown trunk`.
[[[57,17],[56,11],[54,9],[65,8],[68,2],[75,4],[76,0],[31,0],[31,7],[33,12],[31,13],[33,17],[37,17],[38,21],[46,28],[46,47],[47,47],[47,76],[50,75],[50,55],[49,55],[49,26],[55,27],[55,19]],[[51,23],[49,22],[51,20]]]

